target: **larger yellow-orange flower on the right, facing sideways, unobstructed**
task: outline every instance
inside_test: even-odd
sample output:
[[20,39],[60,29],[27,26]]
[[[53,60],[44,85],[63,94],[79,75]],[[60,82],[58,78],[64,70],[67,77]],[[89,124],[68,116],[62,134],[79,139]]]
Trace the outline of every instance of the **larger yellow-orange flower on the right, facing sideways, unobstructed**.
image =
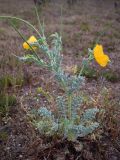
[[108,64],[108,62],[110,61],[108,55],[106,55],[103,52],[102,45],[97,44],[95,46],[95,48],[93,49],[93,55],[94,55],[94,58],[97,61],[97,63],[102,67],[105,67]]

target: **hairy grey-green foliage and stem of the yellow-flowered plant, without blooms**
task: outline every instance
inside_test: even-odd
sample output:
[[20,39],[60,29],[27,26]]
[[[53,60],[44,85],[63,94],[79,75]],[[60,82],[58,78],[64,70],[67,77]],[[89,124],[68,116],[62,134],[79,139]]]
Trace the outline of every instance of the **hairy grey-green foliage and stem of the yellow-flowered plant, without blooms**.
[[[79,75],[65,73],[61,67],[61,37],[58,33],[55,33],[50,38],[52,38],[50,46],[44,36],[34,44],[30,44],[44,52],[48,58],[47,62],[35,55],[27,54],[24,57],[20,57],[22,60],[33,61],[52,71],[58,85],[64,89],[64,94],[57,96],[55,100],[57,113],[48,110],[48,107],[40,107],[37,110],[38,118],[34,121],[34,125],[42,134],[57,134],[69,140],[75,140],[77,137],[84,137],[92,133],[99,126],[97,122],[94,122],[99,109],[87,109],[82,113],[80,89],[85,82],[84,77],[81,76],[82,70]],[[91,51],[89,58],[91,59]],[[83,61],[83,67],[87,65],[88,60]]]

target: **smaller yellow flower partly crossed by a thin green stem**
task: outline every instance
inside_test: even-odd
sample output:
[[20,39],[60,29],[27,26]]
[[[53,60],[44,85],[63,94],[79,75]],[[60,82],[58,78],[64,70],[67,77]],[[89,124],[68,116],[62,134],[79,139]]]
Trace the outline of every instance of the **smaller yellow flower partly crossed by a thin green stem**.
[[[37,42],[37,39],[35,38],[35,36],[31,36],[28,40],[27,40],[27,43],[29,43],[29,45],[31,45],[32,43],[35,43]],[[31,50],[31,47],[32,49],[36,49],[37,47],[35,46],[32,46],[31,47],[27,44],[26,42],[23,43],[23,48],[26,49],[26,50]]]

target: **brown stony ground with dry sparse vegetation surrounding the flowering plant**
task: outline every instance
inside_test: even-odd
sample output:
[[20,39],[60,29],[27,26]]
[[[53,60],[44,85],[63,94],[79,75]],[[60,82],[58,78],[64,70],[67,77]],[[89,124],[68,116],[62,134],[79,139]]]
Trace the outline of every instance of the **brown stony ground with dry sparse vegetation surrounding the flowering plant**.
[[[118,2],[117,2],[118,3]],[[37,131],[29,123],[26,114],[33,107],[45,102],[45,97],[36,101],[36,89],[42,86],[54,94],[56,84],[49,79],[50,73],[31,64],[21,64],[13,57],[24,55],[22,39],[11,27],[10,22],[0,21],[0,75],[11,74],[23,77],[22,87],[8,88],[8,93],[17,96],[17,105],[6,117],[1,119],[0,159],[1,160],[37,160],[37,159],[80,159],[80,160],[118,160],[120,159],[119,112],[120,112],[120,11],[114,0],[79,0],[77,4],[68,6],[63,0],[51,0],[39,7],[41,22],[45,23],[46,35],[61,32],[63,38],[63,68],[70,72],[74,65],[81,65],[87,56],[87,48],[93,47],[99,38],[105,52],[111,59],[110,65],[102,70],[96,62],[92,67],[98,73],[112,73],[112,78],[101,77],[97,80],[90,73],[86,78],[85,93],[91,95],[93,105],[105,107],[106,118],[104,133],[99,141],[83,139],[84,149],[71,152],[66,148],[67,142],[45,144]],[[12,15],[29,20],[36,27],[37,19],[32,0],[0,0],[0,15]],[[27,38],[35,34],[26,25],[13,21],[15,26]],[[37,35],[36,35],[37,36]],[[39,53],[42,57],[43,55]],[[114,79],[114,77],[117,77]],[[46,81],[47,79],[47,81]],[[103,88],[109,92],[108,102],[103,102]],[[112,118],[111,118],[112,117]],[[112,119],[112,120],[111,120]],[[113,119],[115,123],[113,124]],[[117,129],[116,129],[117,127]],[[1,138],[2,137],[2,138]],[[82,140],[81,140],[82,141]],[[80,141],[80,142],[81,142]],[[71,146],[68,144],[68,146]],[[95,149],[96,148],[96,149]]]

